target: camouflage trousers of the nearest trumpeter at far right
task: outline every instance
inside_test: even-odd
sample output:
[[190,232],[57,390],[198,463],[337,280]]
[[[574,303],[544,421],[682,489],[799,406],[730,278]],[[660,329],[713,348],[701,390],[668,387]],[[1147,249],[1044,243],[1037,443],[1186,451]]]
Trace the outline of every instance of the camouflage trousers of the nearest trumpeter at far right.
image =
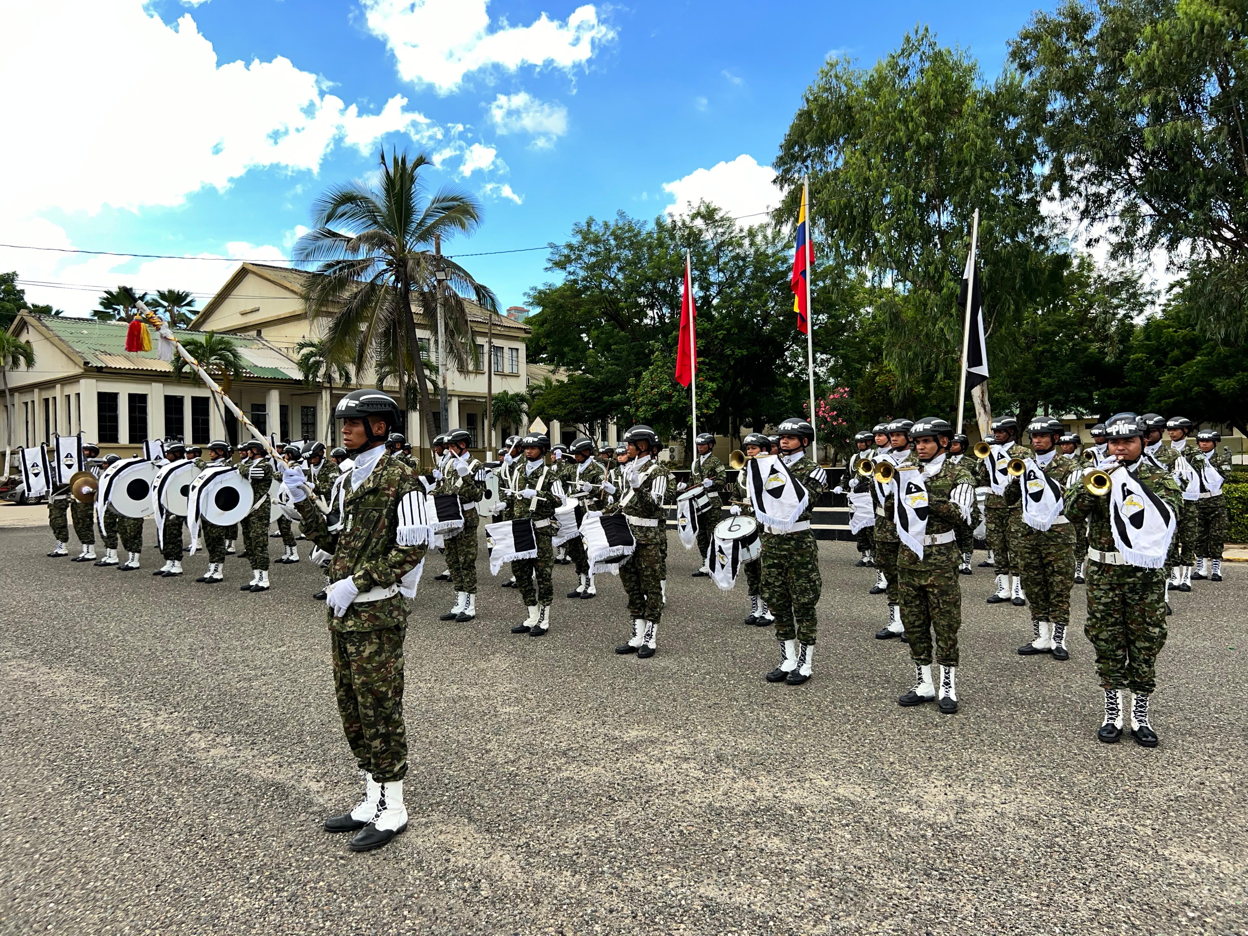
[[[1166,570],[1088,563],[1088,622],[1104,689],[1152,693],[1166,646]],[[1028,595],[1030,598],[1030,595]]]

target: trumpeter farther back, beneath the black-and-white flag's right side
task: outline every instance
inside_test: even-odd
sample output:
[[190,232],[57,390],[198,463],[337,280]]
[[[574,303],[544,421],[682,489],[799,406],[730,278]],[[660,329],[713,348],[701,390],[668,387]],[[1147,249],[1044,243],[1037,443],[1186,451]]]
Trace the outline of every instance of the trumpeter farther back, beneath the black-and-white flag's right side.
[[1018,485],[1006,472],[1015,458],[1030,458],[1031,451],[1020,446],[1018,421],[1011,416],[992,421],[992,452],[981,458],[975,469],[976,490],[985,493],[983,514],[988,549],[997,569],[997,590],[988,595],[988,604],[1011,602],[1020,608],[1027,595],[1018,575],[1018,542],[1022,537],[1022,500]]

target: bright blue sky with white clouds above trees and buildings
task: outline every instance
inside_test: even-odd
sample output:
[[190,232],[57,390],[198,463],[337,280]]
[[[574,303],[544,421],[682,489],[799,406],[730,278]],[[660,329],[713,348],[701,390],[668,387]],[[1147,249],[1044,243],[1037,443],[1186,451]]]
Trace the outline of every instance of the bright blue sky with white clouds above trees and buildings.
[[0,0],[0,272],[70,314],[119,283],[202,306],[398,147],[433,158],[431,191],[480,201],[443,251],[523,305],[555,278],[543,245],[588,217],[774,205],[829,56],[869,66],[927,25],[991,77],[1040,5]]

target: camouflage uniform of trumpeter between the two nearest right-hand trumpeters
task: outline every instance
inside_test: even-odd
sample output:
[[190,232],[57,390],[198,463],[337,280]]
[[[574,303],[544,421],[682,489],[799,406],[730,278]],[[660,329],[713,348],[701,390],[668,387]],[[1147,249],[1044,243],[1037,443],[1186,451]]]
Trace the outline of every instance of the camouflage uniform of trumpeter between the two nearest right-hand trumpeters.
[[[1037,462],[1038,466],[1038,462]],[[1073,482],[1082,483],[1083,466],[1061,452],[1040,469],[1052,479],[1062,492]],[[1047,622],[1063,635],[1071,623],[1071,589],[1075,588],[1075,528],[1082,525],[1071,523],[1066,515],[1053,520],[1053,525],[1041,532],[1026,523],[1017,543],[1018,574],[1022,587],[1031,603],[1031,619],[1035,624]],[[1036,629],[1038,634],[1038,629]]]

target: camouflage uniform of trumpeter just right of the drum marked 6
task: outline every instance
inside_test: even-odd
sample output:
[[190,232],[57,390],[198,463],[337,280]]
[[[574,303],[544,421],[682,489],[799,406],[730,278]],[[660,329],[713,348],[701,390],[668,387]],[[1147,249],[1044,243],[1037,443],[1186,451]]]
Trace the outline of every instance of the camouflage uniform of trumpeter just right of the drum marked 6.
[[[815,503],[827,487],[827,475],[805,452],[792,464],[791,456],[781,456],[789,473],[806,488],[806,509],[797,523],[806,528],[791,533],[773,533],[763,527],[763,600],[776,619],[776,640],[792,640],[812,645],[819,635],[815,607],[824,585],[819,574],[819,542],[810,529]],[[892,582],[889,583],[892,588]]]

